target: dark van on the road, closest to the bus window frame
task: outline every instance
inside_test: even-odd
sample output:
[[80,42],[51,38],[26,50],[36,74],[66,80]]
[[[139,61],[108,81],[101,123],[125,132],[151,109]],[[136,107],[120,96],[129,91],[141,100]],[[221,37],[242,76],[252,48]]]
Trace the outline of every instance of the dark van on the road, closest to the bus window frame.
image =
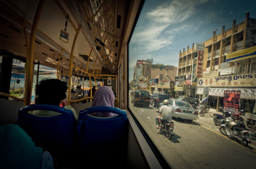
[[133,106],[149,106],[150,95],[148,91],[135,90],[131,92]]

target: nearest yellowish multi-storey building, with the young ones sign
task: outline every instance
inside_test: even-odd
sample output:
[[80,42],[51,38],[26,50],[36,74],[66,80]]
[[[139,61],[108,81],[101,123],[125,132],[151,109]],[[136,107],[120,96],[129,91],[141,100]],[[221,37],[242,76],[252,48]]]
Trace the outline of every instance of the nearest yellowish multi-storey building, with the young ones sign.
[[197,78],[196,93],[201,95],[203,88],[209,87],[208,104],[218,108],[224,106],[225,90],[239,90],[239,109],[255,111],[256,19],[246,13],[245,21],[236,25],[234,20],[228,30],[223,26],[220,34],[214,31],[213,37],[203,44],[203,74]]

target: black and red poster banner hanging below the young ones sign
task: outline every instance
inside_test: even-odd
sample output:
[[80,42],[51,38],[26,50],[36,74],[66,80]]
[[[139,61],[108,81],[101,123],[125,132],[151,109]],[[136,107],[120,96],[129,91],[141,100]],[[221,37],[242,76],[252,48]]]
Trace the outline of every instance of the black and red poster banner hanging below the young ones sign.
[[224,91],[224,110],[232,113],[239,113],[239,104],[240,104],[240,95],[241,91]]

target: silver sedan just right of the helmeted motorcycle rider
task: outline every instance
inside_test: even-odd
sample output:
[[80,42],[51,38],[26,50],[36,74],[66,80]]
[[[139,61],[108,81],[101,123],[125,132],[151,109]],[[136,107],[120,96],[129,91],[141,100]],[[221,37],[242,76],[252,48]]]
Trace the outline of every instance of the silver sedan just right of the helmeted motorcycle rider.
[[[172,116],[176,118],[184,118],[189,120],[196,120],[198,112],[188,102],[179,101],[174,99],[168,99],[169,105],[172,108]],[[159,104],[159,108],[163,106],[163,103]]]

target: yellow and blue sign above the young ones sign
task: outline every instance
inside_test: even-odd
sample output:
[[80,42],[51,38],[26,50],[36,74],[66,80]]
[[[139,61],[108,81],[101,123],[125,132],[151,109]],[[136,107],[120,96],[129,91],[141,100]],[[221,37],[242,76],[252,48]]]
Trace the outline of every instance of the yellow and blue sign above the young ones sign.
[[226,62],[236,61],[256,56],[256,46],[227,54]]

